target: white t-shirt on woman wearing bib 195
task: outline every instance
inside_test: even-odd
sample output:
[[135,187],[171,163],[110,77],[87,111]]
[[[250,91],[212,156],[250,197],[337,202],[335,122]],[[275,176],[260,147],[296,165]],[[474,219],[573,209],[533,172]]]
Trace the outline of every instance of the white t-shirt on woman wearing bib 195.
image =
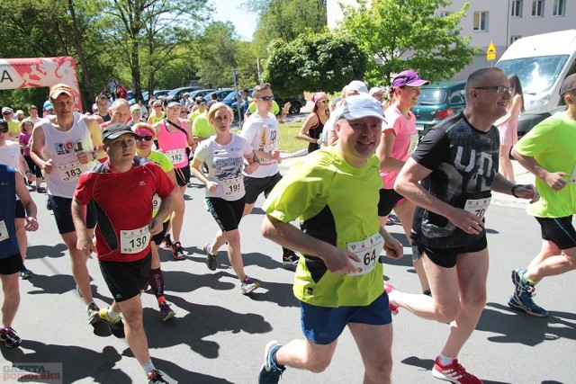
[[194,152],[194,158],[208,166],[206,178],[218,183],[218,188],[214,192],[206,188],[206,196],[237,201],[246,194],[242,174],[244,156],[251,154],[254,149],[246,138],[234,133],[226,145],[218,144],[215,138],[211,136],[203,140]]

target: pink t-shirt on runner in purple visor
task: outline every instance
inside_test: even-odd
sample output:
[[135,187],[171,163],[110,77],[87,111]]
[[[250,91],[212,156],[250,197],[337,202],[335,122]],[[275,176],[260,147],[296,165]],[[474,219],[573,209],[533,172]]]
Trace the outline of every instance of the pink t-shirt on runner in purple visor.
[[[383,132],[391,130],[396,135],[391,156],[397,160],[406,161],[418,145],[418,130],[416,130],[416,116],[409,111],[410,119],[406,119],[402,112],[392,105],[384,111],[384,116],[388,122],[383,126]],[[384,182],[383,189],[392,190],[398,172],[380,170],[380,175]]]

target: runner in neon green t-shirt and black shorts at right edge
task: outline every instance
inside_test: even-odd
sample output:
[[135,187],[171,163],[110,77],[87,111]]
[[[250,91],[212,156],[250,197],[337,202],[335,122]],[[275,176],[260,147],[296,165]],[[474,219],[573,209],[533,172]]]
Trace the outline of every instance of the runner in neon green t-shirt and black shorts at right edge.
[[536,284],[576,268],[576,75],[564,79],[560,94],[567,111],[536,125],[512,149],[518,163],[537,176],[541,199],[527,211],[542,229],[542,249],[527,269],[512,272],[515,290],[508,305],[537,317],[548,312],[532,299]]

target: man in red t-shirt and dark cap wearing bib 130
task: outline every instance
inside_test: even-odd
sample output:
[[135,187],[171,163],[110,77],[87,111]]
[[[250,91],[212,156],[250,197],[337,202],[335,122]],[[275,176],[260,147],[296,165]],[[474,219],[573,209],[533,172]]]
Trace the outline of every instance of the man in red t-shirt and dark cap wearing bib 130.
[[[126,336],[130,351],[147,374],[148,383],[166,383],[154,367],[148,352],[148,340],[142,325],[141,290],[150,274],[150,237],[162,231],[162,219],[172,209],[174,183],[162,168],[146,158],[135,156],[136,135],[130,127],[114,123],[102,132],[108,160],[97,165],[78,181],[72,217],[78,233],[76,247],[94,251],[92,235],[83,219],[90,201],[98,210],[95,251],[104,281],[114,301],[100,310],[112,335]],[[117,193],[122,191],[130,196]],[[157,216],[152,219],[152,196],[161,199]],[[125,320],[124,323],[120,315]]]

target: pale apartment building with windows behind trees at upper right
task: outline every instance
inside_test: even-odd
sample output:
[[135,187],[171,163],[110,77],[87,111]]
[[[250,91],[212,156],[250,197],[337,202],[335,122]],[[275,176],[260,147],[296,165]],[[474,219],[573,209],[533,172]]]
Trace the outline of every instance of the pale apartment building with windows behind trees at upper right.
[[[376,0],[373,0],[376,1]],[[576,28],[576,0],[471,0],[462,19],[462,36],[470,36],[471,45],[481,52],[473,64],[456,74],[455,79],[465,79],[474,69],[491,66],[514,41],[539,33]],[[467,3],[454,0],[452,5],[438,9],[445,15],[462,9]],[[353,5],[356,0],[327,0],[328,26],[338,25],[343,18],[339,4]],[[491,41],[496,48],[496,58],[489,61],[486,50]]]

